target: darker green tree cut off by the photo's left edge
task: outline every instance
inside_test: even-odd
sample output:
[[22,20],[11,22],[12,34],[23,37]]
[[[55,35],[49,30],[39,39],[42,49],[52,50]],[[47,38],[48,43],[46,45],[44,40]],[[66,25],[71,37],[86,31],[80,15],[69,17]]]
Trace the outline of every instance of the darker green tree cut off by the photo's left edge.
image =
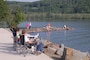
[[0,21],[6,22],[9,26],[11,24],[10,10],[6,4],[6,1],[0,0]]

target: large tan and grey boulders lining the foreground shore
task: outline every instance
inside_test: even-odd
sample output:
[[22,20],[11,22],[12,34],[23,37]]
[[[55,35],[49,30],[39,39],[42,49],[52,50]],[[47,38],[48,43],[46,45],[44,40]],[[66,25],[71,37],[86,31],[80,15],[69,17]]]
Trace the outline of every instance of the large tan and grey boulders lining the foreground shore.
[[56,60],[90,60],[88,52],[81,52],[73,48],[51,43],[47,40],[42,40],[44,44],[44,53]]

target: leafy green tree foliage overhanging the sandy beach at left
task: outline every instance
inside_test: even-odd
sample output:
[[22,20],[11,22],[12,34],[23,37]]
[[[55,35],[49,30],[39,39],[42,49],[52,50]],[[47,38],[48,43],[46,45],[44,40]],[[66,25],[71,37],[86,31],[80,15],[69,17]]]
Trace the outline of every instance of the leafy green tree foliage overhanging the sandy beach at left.
[[0,25],[17,26],[24,18],[24,13],[18,7],[11,10],[5,0],[0,0]]

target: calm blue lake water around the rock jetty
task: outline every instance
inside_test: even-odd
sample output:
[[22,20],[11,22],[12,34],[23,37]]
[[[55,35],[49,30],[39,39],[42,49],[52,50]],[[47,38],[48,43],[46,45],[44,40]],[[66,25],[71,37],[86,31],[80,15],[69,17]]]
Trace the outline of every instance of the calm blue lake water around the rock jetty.
[[[19,24],[19,27],[25,28],[23,22]],[[49,40],[53,43],[61,44],[65,46],[80,50],[88,51],[90,53],[90,22],[49,22],[53,27],[68,27],[74,28],[74,30],[68,31],[51,31],[51,32],[39,32],[40,37],[45,40]],[[48,22],[32,22],[32,27],[43,27]]]

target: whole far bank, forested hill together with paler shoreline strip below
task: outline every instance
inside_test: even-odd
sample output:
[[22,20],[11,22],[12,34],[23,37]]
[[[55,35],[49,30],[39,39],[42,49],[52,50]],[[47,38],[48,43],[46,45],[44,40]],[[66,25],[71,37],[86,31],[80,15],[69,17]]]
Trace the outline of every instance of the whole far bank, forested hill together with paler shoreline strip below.
[[19,7],[30,21],[90,19],[90,0],[40,0],[7,2],[10,9]]

